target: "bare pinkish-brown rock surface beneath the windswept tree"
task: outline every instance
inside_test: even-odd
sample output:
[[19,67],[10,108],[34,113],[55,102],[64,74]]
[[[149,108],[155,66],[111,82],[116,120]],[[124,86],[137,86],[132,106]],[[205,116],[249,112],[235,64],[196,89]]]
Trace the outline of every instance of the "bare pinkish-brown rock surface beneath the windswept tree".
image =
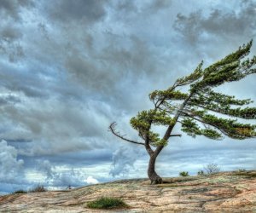
[[[164,178],[96,184],[67,191],[10,194],[0,197],[0,212],[256,212],[256,170],[212,176]],[[129,209],[90,210],[88,201],[121,198]]]

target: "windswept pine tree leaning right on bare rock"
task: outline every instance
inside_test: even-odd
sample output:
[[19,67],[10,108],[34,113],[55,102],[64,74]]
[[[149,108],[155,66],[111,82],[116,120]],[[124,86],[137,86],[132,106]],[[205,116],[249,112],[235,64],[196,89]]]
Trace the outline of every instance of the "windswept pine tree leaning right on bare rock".
[[[203,62],[186,77],[178,78],[172,87],[155,90],[149,94],[154,108],[138,112],[131,118],[131,127],[137,130],[142,141],[125,138],[116,130],[116,123],[110,124],[113,135],[145,147],[149,155],[148,178],[151,184],[162,183],[154,170],[157,156],[170,141],[181,135],[172,134],[177,123],[187,135],[204,135],[212,140],[221,140],[224,135],[238,140],[255,137],[256,125],[245,124],[245,120],[256,118],[256,107],[248,107],[251,99],[238,100],[233,95],[225,95],[213,89],[221,84],[239,81],[256,73],[256,56],[244,59],[249,54],[253,41],[243,45],[224,59],[202,68]],[[182,91],[181,89],[185,90]],[[247,107],[243,107],[247,106]],[[243,118],[242,123],[237,118]],[[154,132],[152,127],[166,128],[165,135]]]

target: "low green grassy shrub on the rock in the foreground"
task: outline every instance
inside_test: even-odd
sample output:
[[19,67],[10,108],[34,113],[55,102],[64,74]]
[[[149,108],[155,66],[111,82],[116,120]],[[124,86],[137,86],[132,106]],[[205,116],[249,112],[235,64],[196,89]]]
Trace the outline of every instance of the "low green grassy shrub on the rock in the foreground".
[[102,197],[94,201],[90,201],[87,207],[91,209],[116,209],[128,207],[122,199]]

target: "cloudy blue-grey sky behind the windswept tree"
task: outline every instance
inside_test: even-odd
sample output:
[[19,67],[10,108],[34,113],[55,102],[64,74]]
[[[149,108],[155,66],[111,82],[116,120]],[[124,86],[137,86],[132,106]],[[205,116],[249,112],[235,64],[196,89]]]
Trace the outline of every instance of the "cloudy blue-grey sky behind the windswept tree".
[[[109,124],[138,140],[151,91],[256,40],[255,0],[0,0],[0,18],[0,193],[147,177],[146,151]],[[220,90],[256,101],[255,80]],[[256,167],[255,139],[174,133],[160,176]]]

